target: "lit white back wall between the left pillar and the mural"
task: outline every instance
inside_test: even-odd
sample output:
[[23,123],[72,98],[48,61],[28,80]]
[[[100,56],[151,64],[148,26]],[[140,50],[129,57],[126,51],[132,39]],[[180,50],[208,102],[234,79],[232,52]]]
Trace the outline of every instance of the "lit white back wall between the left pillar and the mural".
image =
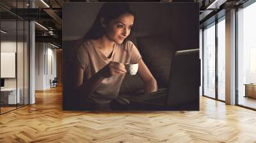
[[57,75],[56,49],[53,48],[49,43],[36,43],[35,90],[49,89],[50,79]]

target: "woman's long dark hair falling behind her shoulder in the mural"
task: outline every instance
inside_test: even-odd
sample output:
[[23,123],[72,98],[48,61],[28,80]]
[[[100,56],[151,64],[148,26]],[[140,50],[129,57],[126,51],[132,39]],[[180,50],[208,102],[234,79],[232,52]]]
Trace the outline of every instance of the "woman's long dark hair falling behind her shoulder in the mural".
[[93,22],[93,26],[85,34],[83,39],[86,40],[97,40],[105,33],[104,27],[100,22],[100,19],[104,19],[106,24],[109,24],[111,20],[117,19],[120,15],[130,13],[135,17],[134,11],[128,3],[104,3],[99,10],[99,13]]

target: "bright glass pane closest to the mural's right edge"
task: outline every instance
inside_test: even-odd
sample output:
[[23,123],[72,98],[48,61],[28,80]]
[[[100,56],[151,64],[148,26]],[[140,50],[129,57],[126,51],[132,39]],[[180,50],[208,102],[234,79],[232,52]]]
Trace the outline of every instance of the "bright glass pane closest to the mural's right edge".
[[204,95],[215,98],[215,24],[204,29]]

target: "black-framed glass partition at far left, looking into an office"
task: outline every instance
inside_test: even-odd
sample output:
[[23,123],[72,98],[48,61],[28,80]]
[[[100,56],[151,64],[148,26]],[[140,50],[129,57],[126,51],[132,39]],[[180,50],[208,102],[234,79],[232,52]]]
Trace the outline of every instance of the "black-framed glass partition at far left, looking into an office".
[[[12,1],[15,8],[27,8],[26,3],[28,1]],[[12,76],[1,75],[4,86],[0,92],[0,114],[3,114],[29,103],[29,22],[3,8],[0,14],[0,70],[1,73],[13,73]],[[12,64],[6,65],[4,61],[14,61],[14,66],[9,67],[12,71],[5,68]]]

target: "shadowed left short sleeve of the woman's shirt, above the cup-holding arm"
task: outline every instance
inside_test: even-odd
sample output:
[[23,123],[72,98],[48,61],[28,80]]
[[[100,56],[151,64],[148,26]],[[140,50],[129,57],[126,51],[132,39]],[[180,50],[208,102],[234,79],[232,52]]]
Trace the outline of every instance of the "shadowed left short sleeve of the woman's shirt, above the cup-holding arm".
[[77,66],[81,66],[83,70],[86,70],[88,66],[88,52],[86,51],[85,45],[79,45],[77,47],[75,54],[72,58],[72,63],[77,64]]

